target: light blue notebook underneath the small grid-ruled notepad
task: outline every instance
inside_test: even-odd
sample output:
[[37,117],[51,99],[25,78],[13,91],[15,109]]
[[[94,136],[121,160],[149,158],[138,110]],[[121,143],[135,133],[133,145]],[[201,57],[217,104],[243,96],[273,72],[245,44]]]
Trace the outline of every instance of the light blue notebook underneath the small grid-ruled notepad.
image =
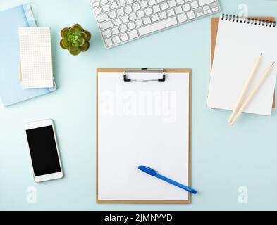
[[35,19],[30,5],[18,6],[0,12],[1,35],[0,41],[0,96],[4,106],[13,105],[30,98],[56,90],[23,89],[20,82],[20,56],[19,56],[19,27],[35,27]]

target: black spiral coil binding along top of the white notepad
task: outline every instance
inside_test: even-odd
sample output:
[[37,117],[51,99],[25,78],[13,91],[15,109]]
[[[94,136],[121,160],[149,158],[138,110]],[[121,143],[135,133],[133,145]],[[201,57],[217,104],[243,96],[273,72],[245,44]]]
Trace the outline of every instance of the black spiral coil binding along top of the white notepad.
[[258,20],[254,18],[239,17],[238,15],[222,14],[221,20],[232,21],[235,23],[247,23],[252,25],[266,26],[266,27],[277,27],[276,22],[269,20]]

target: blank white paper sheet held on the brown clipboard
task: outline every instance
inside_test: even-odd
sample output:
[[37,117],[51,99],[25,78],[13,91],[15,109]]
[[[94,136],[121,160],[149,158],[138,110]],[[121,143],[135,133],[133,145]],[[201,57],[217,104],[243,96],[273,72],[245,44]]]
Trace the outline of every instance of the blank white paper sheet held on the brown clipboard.
[[[188,200],[187,191],[137,167],[189,185],[189,74],[168,74],[166,82],[123,82],[122,73],[103,72],[98,90],[99,200]],[[153,108],[142,107],[147,104]]]

